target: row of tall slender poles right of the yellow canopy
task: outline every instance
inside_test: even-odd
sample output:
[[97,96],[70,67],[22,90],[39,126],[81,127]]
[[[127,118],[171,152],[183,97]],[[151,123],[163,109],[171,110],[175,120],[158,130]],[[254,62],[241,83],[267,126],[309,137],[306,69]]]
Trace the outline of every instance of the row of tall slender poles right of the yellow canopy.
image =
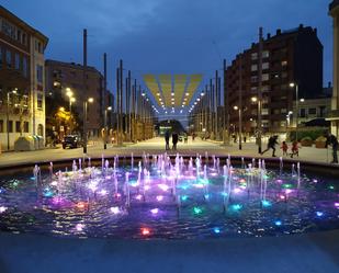
[[[258,152],[261,153],[262,150],[262,27],[259,29],[259,47],[258,47],[258,116],[257,116],[257,144]],[[194,132],[203,133],[203,136],[210,135],[214,139],[223,139],[224,145],[230,144],[230,111],[238,111],[238,130],[239,130],[239,149],[242,148],[242,59],[241,55],[239,58],[239,100],[236,107],[229,105],[229,90],[227,89],[227,65],[226,59],[223,61],[223,94],[224,94],[224,105],[221,104],[222,92],[221,92],[221,77],[218,70],[215,71],[215,78],[210,79],[210,84],[206,84],[199,98],[197,104],[189,116],[190,126],[193,127]],[[219,111],[223,110],[223,111]],[[222,115],[222,116],[219,116]],[[205,134],[204,134],[205,133]]]

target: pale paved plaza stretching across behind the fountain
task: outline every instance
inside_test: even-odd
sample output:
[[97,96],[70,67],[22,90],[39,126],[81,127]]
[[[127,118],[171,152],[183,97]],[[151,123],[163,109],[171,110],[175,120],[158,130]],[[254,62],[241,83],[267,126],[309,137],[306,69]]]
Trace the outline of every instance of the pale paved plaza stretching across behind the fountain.
[[[263,143],[262,148],[265,149],[267,144]],[[290,144],[291,147],[291,144]],[[88,146],[88,157],[99,158],[102,155],[104,157],[113,157],[115,155],[120,156],[131,156],[133,152],[135,156],[140,156],[143,152],[149,155],[163,153],[165,150],[165,139],[163,138],[152,138],[138,144],[126,144],[123,147],[116,147],[109,145],[108,149],[103,149],[102,143],[91,143]],[[222,143],[201,140],[200,138],[192,141],[190,138],[188,144],[179,143],[178,150],[168,151],[169,155],[174,155],[179,152],[184,156],[196,156],[196,153],[205,155],[207,151],[211,156],[237,156],[237,157],[258,157],[258,158],[270,158],[272,156],[272,150],[265,152],[263,156],[258,153],[258,146],[253,143],[242,144],[242,149],[239,150],[238,144],[231,144],[229,146],[224,146]],[[276,146],[276,156],[282,156],[282,150],[280,146]],[[0,167],[25,164],[25,163],[37,163],[37,162],[48,162],[61,159],[74,159],[83,157],[82,148],[77,149],[63,149],[60,147],[46,148],[44,150],[36,151],[23,151],[23,152],[3,152],[0,155]],[[291,159],[290,157],[284,157]],[[315,147],[302,147],[300,149],[300,157],[293,158],[296,161],[313,161],[319,163],[329,163],[331,161],[331,149],[317,149]],[[336,164],[338,166],[338,164]],[[338,166],[339,167],[339,166]]]

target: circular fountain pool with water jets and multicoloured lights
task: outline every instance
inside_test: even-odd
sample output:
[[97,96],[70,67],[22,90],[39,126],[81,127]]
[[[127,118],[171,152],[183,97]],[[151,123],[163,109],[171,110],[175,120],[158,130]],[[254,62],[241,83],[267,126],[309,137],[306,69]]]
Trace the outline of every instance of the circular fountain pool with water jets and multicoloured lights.
[[[123,162],[124,161],[124,162]],[[261,159],[143,155],[2,175],[0,228],[99,238],[225,238],[339,228],[339,181]]]

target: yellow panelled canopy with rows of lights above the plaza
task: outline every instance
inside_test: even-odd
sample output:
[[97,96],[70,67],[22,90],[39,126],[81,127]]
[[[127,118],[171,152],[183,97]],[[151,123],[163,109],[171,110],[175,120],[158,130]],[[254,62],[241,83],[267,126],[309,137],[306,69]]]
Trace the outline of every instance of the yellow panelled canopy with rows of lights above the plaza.
[[157,104],[167,109],[188,106],[200,87],[203,76],[196,75],[144,75],[147,89],[154,95]]

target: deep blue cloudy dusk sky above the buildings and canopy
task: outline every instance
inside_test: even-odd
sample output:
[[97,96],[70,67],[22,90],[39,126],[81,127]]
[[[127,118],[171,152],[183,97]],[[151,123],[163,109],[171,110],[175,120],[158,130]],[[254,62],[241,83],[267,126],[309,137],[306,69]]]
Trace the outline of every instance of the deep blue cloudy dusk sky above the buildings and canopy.
[[[332,33],[327,0],[1,0],[49,37],[46,58],[82,64],[82,30],[89,65],[102,70],[109,56],[109,88],[120,58],[133,76],[203,73],[207,80],[236,54],[276,29],[301,23],[318,29],[324,45],[324,84],[331,80]],[[113,87],[114,88],[114,87]],[[115,88],[114,88],[115,90]]]

